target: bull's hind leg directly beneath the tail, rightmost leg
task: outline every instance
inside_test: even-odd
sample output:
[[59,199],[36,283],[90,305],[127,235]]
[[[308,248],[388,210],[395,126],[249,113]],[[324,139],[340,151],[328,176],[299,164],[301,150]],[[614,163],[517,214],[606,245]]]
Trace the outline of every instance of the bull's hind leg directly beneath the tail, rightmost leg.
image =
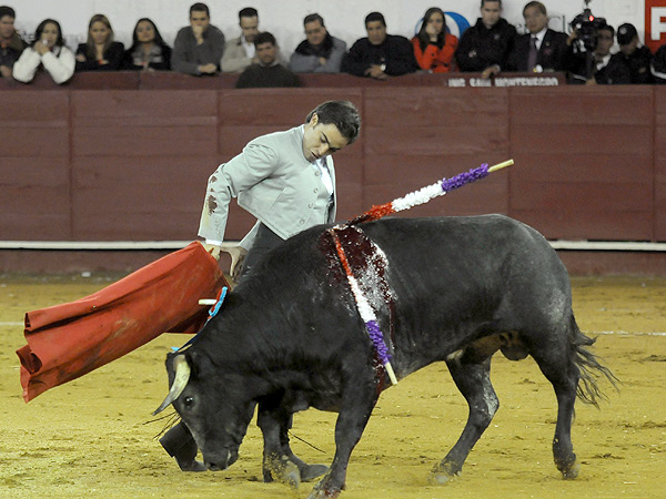
[[574,404],[576,401],[576,387],[578,386],[579,370],[574,364],[565,338],[562,345],[547,344],[547,348],[529,352],[544,376],[553,384],[557,397],[557,424],[553,439],[553,457],[555,466],[565,479],[578,476],[581,465],[576,460],[572,444],[572,421],[574,418]]

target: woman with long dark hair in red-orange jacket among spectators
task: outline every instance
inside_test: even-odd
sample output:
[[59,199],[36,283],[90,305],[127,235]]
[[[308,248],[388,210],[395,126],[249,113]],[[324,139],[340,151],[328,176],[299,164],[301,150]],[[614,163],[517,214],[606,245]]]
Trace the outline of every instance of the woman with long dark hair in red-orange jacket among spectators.
[[447,73],[453,65],[457,38],[446,32],[446,17],[437,7],[423,16],[418,34],[412,39],[414,57],[422,70]]

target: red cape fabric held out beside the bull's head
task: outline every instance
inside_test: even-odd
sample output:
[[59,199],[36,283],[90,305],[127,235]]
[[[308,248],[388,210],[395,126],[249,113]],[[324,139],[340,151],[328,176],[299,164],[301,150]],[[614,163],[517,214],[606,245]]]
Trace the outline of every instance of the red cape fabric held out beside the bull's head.
[[72,303],[26,314],[21,360],[23,399],[71,381],[165,332],[196,333],[226,286],[218,262],[192,243]]

